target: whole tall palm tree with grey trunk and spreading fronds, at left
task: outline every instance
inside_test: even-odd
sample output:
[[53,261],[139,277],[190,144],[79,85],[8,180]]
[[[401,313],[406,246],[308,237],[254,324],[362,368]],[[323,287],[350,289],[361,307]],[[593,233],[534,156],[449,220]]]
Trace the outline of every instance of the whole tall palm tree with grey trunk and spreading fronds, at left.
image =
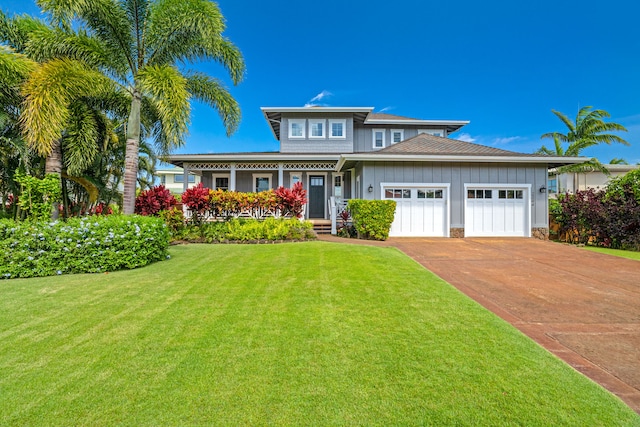
[[[39,0],[38,4],[65,30],[34,39],[31,53],[35,57],[58,56],[81,61],[99,70],[131,97],[126,124],[124,213],[134,211],[143,109],[151,108],[158,117],[151,134],[160,154],[184,143],[191,98],[216,109],[228,135],[236,130],[240,109],[224,84],[178,66],[212,60],[227,70],[233,84],[242,80],[244,60],[238,48],[222,35],[224,18],[215,3]],[[80,30],[70,30],[72,21],[74,26],[80,25]],[[52,110],[57,106],[52,105]],[[32,139],[46,144],[43,138],[60,134],[61,123],[47,123],[56,117],[55,111],[42,114],[31,110],[29,114],[30,126],[34,126]]]

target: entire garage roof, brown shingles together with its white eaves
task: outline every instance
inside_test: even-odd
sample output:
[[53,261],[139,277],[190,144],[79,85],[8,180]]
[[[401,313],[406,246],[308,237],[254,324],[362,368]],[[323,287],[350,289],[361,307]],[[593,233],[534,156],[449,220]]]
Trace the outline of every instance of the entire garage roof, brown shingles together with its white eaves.
[[548,167],[558,167],[583,163],[586,160],[586,157],[517,153],[456,139],[420,134],[382,150],[343,154],[336,169],[349,169],[360,161],[542,163],[547,164]]

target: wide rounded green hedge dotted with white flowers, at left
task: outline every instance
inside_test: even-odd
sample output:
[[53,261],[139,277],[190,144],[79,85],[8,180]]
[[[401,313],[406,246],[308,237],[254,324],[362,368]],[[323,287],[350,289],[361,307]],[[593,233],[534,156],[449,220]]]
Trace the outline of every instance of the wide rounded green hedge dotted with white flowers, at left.
[[98,273],[142,267],[167,257],[162,219],[92,216],[66,222],[0,220],[0,278]]

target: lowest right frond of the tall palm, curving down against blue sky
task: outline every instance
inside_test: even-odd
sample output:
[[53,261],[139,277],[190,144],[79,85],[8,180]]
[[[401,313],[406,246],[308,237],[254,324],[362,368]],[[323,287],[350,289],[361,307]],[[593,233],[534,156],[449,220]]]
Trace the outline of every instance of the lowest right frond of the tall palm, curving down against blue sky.
[[240,106],[221,81],[203,73],[194,73],[187,76],[187,85],[196,99],[218,111],[228,136],[238,129],[242,116]]

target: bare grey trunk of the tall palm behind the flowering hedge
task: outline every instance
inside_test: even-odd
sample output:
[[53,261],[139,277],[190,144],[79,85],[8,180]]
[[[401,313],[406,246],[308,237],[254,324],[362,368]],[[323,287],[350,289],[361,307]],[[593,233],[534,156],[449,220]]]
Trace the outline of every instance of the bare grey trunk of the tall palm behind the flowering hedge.
[[140,146],[140,91],[135,89],[131,99],[131,112],[127,122],[127,148],[124,161],[124,194],[122,211],[125,215],[134,212],[136,203],[136,182],[138,180],[138,149]]

